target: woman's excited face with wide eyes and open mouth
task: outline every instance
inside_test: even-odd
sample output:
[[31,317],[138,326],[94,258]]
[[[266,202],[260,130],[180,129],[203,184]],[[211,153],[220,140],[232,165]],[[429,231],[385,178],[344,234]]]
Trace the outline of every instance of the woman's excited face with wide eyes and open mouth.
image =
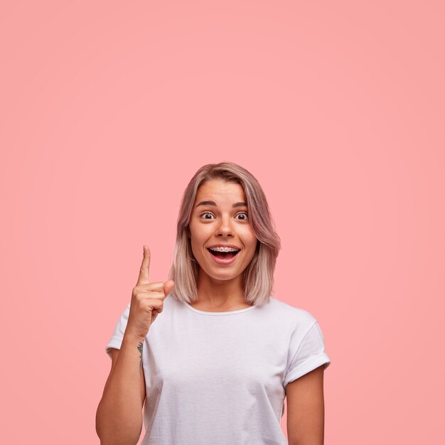
[[[241,281],[257,247],[242,186],[222,179],[201,184],[189,227],[200,274],[215,280]],[[235,257],[230,252],[210,253],[209,248],[215,246],[235,247],[238,252]]]

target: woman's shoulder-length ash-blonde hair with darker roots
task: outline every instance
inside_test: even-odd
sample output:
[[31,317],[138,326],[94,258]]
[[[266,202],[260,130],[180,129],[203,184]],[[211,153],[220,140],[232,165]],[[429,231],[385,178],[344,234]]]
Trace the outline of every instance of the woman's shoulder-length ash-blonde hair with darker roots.
[[183,193],[173,264],[168,275],[168,279],[175,282],[172,294],[178,301],[186,301],[189,304],[198,299],[199,264],[191,249],[188,225],[198,188],[203,183],[217,178],[239,183],[244,190],[250,223],[258,242],[254,257],[242,272],[242,285],[246,301],[262,306],[269,302],[269,296],[272,294],[275,264],[281,250],[280,238],[274,229],[266,195],[259,182],[252,173],[232,162],[208,163],[202,166],[191,178]]

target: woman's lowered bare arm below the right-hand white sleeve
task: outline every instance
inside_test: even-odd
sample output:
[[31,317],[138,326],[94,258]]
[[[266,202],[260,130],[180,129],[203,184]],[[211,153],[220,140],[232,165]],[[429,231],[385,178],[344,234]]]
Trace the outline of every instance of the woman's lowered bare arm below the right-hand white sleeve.
[[324,444],[324,365],[286,386],[289,445]]

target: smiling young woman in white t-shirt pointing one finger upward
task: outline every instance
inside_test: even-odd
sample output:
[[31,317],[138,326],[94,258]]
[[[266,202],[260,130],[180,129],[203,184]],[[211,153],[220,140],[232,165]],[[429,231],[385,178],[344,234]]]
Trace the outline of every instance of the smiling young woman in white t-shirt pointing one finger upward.
[[136,444],[143,421],[142,445],[284,445],[284,397],[289,444],[323,444],[331,360],[316,318],[271,295],[279,249],[249,171],[223,162],[195,173],[168,281],[149,282],[144,246],[132,300],[105,348],[102,445]]

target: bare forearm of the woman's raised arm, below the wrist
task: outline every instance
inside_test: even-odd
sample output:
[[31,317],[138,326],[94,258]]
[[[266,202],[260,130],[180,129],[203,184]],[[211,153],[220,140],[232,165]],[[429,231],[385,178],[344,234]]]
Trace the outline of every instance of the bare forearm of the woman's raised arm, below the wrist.
[[136,445],[142,430],[141,343],[144,338],[122,339],[114,370],[96,413],[96,431],[101,445]]

